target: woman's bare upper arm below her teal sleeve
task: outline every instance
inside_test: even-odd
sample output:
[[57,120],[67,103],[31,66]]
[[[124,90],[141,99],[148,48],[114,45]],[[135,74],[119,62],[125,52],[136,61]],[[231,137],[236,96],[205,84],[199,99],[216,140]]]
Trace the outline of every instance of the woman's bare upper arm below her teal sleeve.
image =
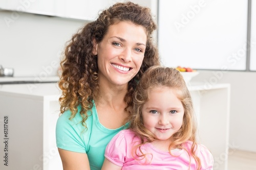
[[89,160],[86,153],[78,153],[59,149],[63,170],[90,170]]

